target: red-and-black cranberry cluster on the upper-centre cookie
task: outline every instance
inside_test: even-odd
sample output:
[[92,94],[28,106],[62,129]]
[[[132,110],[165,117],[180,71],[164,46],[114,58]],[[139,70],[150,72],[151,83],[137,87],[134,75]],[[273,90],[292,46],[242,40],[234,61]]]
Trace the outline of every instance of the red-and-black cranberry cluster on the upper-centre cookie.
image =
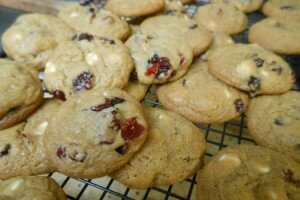
[[160,78],[161,74],[167,75],[172,68],[171,63],[166,57],[159,57],[157,54],[148,60],[149,66],[145,72],[146,76],[151,74],[155,75],[155,78]]

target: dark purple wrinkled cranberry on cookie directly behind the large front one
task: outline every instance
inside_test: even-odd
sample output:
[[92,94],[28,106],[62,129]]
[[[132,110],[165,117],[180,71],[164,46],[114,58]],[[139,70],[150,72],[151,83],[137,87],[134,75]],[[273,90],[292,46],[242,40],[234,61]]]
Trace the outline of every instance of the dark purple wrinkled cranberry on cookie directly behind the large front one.
[[74,80],[73,80],[73,91],[78,92],[82,89],[90,90],[92,89],[92,78],[94,76],[90,74],[89,72],[83,72],[79,74]]

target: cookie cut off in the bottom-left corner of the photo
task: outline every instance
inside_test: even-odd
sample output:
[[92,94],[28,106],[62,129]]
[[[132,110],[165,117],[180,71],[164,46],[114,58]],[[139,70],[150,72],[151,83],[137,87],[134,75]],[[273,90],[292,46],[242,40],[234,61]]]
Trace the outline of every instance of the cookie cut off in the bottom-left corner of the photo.
[[19,176],[0,182],[0,199],[66,200],[63,189],[49,177]]

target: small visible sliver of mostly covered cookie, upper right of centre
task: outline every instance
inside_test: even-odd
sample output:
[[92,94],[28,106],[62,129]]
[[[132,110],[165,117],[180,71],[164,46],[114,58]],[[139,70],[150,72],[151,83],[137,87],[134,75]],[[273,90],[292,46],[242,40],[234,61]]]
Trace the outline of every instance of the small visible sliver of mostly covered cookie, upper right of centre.
[[234,40],[223,32],[212,32],[213,42],[209,49],[201,55],[202,60],[207,60],[209,54],[217,47],[235,44]]

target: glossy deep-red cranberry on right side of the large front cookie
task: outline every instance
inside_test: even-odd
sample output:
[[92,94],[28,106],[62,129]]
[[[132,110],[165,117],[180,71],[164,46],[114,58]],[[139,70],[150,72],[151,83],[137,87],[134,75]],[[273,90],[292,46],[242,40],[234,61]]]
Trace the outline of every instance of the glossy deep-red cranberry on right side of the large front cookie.
[[133,140],[143,134],[145,128],[139,124],[136,117],[124,122],[121,127],[121,135],[125,140]]

